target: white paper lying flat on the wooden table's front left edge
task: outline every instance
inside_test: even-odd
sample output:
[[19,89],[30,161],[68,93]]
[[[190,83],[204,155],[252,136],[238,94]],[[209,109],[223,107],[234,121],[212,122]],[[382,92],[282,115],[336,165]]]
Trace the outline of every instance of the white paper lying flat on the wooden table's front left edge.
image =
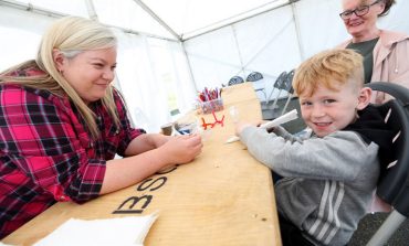
[[34,246],[143,246],[157,215],[84,221],[70,218]]

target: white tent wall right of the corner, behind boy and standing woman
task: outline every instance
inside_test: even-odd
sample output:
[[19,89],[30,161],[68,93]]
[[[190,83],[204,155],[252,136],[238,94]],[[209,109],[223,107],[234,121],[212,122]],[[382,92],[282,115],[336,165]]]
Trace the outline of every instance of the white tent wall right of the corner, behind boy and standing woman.
[[[400,0],[378,24],[409,33],[408,11],[409,1]],[[197,88],[258,71],[271,90],[281,72],[349,39],[339,12],[340,0],[301,0],[186,41]]]

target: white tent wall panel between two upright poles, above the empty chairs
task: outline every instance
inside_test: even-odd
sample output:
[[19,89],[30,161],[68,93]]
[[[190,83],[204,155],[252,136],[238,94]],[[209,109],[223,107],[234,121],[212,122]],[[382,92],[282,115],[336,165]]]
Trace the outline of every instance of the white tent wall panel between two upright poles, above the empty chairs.
[[[227,84],[252,71],[266,81],[301,62],[290,6],[186,41],[197,88]],[[284,45],[283,45],[284,44]]]

